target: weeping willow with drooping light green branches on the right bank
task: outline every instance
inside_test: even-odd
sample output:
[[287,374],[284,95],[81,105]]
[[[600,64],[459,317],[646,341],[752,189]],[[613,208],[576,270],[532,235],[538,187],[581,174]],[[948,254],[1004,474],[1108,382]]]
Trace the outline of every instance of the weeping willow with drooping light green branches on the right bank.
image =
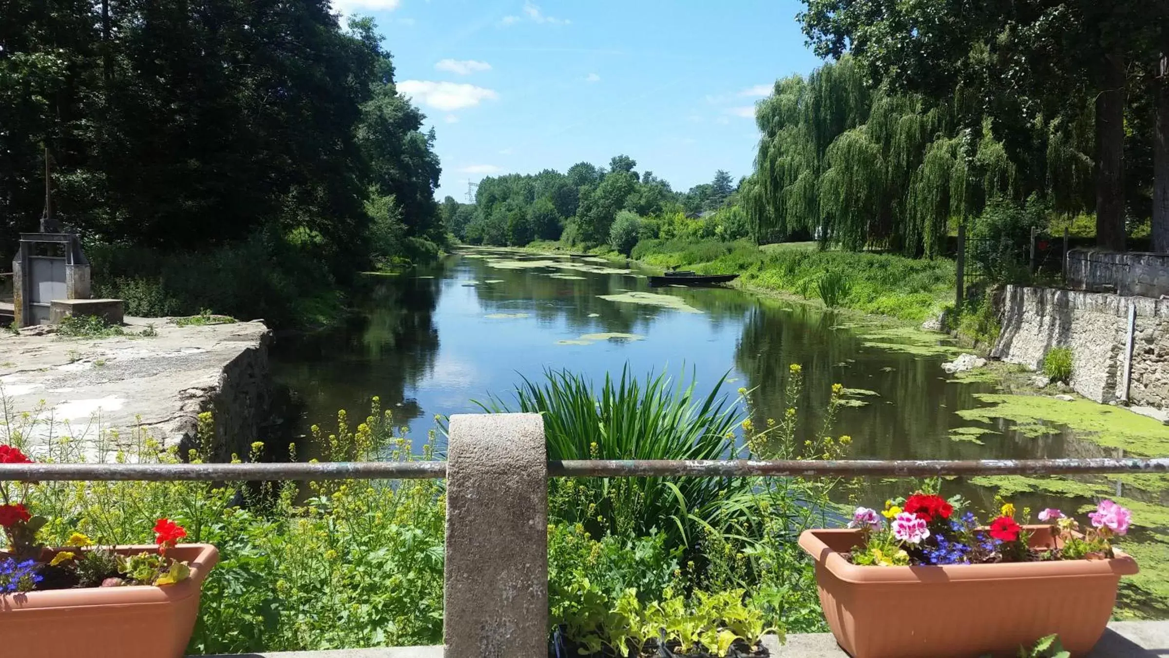
[[[1091,120],[1036,119],[1025,146],[1012,151],[996,139],[983,102],[962,86],[945,102],[870,89],[849,56],[807,79],[776,82],[756,111],[762,134],[743,196],[756,236],[934,256],[991,199],[1057,191],[1058,210],[1082,208],[1091,198],[1084,194],[1091,191],[1084,150]],[[1019,174],[1023,150],[1039,153],[1046,176]]]

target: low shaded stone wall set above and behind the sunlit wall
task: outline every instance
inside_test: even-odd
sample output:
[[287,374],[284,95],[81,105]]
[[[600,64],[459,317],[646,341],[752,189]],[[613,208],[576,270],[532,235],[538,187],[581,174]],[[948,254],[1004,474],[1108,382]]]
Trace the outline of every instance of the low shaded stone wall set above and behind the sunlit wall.
[[1169,254],[1071,249],[1067,251],[1067,285],[1092,292],[1153,298],[1169,295]]

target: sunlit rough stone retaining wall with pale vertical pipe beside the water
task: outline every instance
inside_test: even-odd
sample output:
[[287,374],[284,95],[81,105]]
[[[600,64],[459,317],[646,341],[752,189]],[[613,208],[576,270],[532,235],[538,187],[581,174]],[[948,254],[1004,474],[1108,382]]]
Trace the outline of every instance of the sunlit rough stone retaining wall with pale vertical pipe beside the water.
[[1136,307],[1132,404],[1169,408],[1169,299],[1009,285],[991,356],[1040,368],[1052,347],[1072,351],[1072,388],[1097,402],[1125,399],[1128,307]]

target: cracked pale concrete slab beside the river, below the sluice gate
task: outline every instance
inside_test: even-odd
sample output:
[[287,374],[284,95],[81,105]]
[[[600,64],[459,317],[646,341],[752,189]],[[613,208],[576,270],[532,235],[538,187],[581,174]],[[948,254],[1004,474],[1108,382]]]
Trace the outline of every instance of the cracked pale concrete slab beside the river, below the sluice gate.
[[[168,318],[127,318],[124,328],[140,334],[147,324],[157,335],[68,339],[37,327],[0,338],[6,413],[16,416],[34,451],[50,435],[92,439],[98,428],[141,427],[172,444],[193,438],[199,414],[212,406],[224,450],[247,443],[228,441],[229,435],[255,436],[270,400],[268,327],[262,321],[180,327]],[[26,411],[34,416],[19,417]]]

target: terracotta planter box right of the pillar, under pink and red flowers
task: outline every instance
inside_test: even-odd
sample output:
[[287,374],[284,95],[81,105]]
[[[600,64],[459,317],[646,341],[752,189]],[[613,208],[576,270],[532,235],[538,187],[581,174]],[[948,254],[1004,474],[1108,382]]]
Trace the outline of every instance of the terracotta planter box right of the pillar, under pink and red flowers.
[[[1051,546],[1050,526],[1025,527],[1031,546]],[[1119,550],[1112,560],[860,567],[841,556],[859,541],[853,529],[800,535],[828,625],[853,658],[1014,657],[1051,633],[1082,656],[1107,628],[1120,576],[1137,572]]]

